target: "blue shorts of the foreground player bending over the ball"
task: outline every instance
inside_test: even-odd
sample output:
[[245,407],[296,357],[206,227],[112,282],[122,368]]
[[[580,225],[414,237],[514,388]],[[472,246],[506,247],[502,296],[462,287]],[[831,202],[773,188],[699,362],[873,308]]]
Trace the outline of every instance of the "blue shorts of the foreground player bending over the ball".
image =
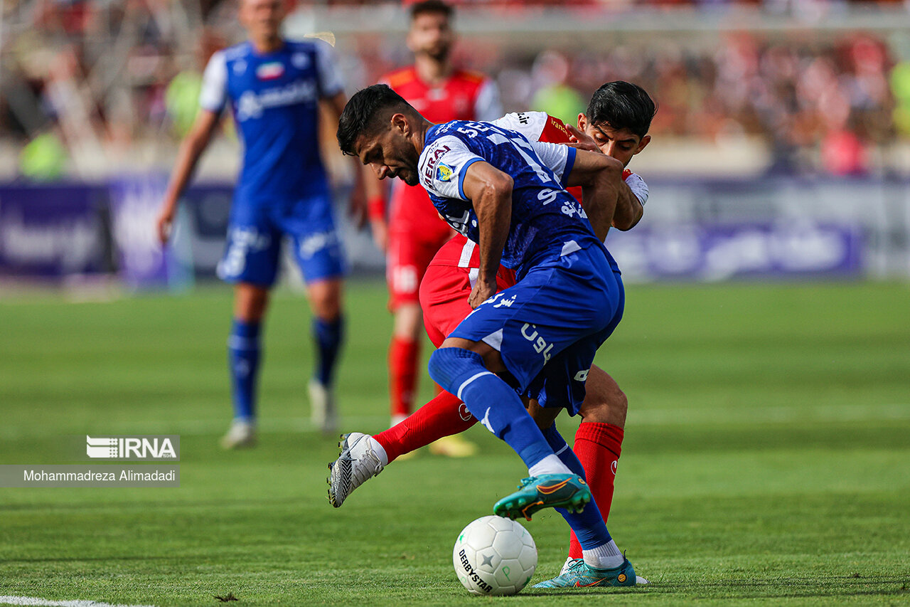
[[600,245],[534,267],[450,334],[496,348],[515,387],[578,413],[588,369],[622,319],[622,279]]

